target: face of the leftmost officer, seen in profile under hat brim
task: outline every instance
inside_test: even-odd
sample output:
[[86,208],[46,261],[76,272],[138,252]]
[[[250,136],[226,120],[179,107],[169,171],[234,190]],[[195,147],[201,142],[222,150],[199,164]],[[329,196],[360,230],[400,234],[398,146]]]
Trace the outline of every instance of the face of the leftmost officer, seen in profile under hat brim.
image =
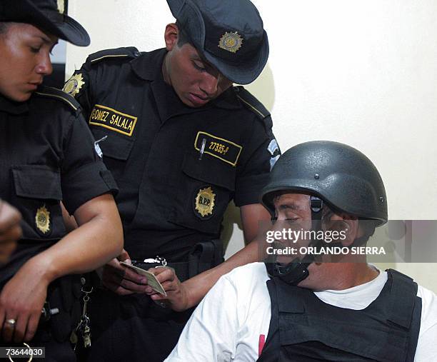
[[53,71],[50,52],[58,39],[30,24],[12,23],[0,34],[0,93],[27,101]]

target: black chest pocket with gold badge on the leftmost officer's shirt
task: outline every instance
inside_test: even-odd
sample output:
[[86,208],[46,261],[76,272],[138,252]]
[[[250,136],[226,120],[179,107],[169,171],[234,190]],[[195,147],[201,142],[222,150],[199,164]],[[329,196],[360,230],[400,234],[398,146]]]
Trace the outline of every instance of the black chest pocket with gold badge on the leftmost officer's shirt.
[[61,175],[48,166],[12,166],[12,201],[23,216],[23,238],[60,239],[66,234],[60,201]]

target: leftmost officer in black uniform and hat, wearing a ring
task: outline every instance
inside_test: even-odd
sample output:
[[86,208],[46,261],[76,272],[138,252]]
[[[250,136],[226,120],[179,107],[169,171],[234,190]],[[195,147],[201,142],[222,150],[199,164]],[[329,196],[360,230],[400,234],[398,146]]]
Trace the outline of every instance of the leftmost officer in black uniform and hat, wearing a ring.
[[[0,266],[0,345],[44,346],[45,361],[76,360],[71,274],[103,265],[123,242],[116,184],[79,104],[41,86],[59,38],[89,44],[64,10],[54,0],[0,4],[0,198],[23,218],[16,251]],[[79,224],[68,235],[61,202]]]

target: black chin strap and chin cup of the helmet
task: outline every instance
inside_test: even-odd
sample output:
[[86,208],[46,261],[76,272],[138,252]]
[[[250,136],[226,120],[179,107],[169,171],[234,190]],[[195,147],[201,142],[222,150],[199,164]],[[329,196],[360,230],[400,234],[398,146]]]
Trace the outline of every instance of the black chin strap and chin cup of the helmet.
[[[321,231],[321,211],[323,208],[323,201],[321,198],[316,196],[311,196],[310,201],[311,207],[311,231],[315,231],[317,235],[318,231]],[[311,240],[309,246],[321,246],[323,244],[322,240]],[[282,265],[277,262],[278,256],[275,256],[275,261],[273,263],[266,263],[267,273],[272,278],[277,276],[282,281],[296,286],[298,283],[303,281],[303,279],[308,278],[308,266],[313,263],[314,256],[306,255],[303,259],[295,258],[291,263]]]

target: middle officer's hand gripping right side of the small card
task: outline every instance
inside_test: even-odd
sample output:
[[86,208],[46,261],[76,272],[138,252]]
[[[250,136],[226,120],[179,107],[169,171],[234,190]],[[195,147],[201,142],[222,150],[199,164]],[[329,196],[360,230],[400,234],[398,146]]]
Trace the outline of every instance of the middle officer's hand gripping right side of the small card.
[[179,281],[174,268],[160,266],[159,268],[150,268],[149,271],[154,273],[167,296],[154,291],[150,286],[147,287],[146,293],[158,304],[164,303],[163,306],[168,306],[177,312],[185,311],[188,306],[188,291],[184,284]]

